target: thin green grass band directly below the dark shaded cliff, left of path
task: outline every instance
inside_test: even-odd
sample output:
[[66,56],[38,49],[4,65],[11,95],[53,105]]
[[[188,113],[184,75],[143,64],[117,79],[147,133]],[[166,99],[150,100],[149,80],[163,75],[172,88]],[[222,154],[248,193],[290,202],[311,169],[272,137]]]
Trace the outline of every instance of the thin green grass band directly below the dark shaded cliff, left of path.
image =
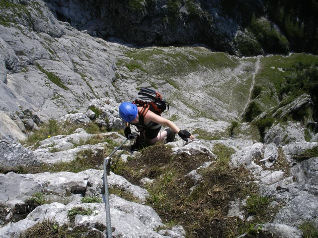
[[[163,49],[168,49],[164,51]],[[234,68],[238,60],[220,52],[211,52],[201,47],[177,48],[142,48],[126,53],[132,59],[126,66],[130,70],[138,68],[147,74],[162,76],[163,78],[172,76],[185,76],[199,69],[221,69]],[[123,64],[118,61],[117,65]],[[147,65],[147,67],[146,67]]]

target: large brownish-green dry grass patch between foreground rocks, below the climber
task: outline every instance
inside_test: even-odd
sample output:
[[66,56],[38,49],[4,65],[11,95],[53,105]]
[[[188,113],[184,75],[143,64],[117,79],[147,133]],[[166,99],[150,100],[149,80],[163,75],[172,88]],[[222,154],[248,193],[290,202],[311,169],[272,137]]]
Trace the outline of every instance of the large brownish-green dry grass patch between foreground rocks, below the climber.
[[[228,217],[228,204],[234,198],[256,194],[257,186],[250,182],[250,174],[243,168],[228,167],[233,149],[216,144],[213,152],[218,159],[210,167],[197,171],[202,175],[197,184],[184,175],[211,161],[211,156],[172,155],[170,147],[160,144],[143,149],[140,157],[130,158],[126,164],[118,165],[120,169],[116,171],[134,184],[140,184],[140,179],[145,177],[155,179],[146,185],[150,193],[147,204],[167,224],[182,225],[187,238],[211,237],[211,234],[237,237],[247,232],[253,222]],[[273,214],[267,203],[251,200],[249,206],[262,207],[262,212]],[[269,222],[267,214],[263,216],[254,210],[259,222]]]

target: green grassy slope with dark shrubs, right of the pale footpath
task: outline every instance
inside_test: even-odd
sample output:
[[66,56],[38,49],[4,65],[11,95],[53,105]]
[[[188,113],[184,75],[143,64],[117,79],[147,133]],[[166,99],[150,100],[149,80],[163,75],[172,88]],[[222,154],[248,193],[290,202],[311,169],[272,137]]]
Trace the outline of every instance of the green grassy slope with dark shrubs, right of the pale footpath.
[[291,102],[303,93],[310,94],[312,100],[316,100],[317,56],[306,54],[292,54],[289,57],[271,56],[260,58],[260,64],[261,68],[255,76],[255,83],[262,88],[262,93],[257,97],[257,102],[265,105],[266,109],[277,106],[287,98]]

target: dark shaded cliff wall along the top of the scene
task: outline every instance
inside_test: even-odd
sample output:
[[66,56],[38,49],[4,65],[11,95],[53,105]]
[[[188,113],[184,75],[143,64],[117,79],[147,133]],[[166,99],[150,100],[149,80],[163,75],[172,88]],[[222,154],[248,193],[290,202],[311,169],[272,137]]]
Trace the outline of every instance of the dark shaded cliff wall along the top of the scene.
[[[265,18],[270,15],[267,4],[271,4],[266,0],[95,0],[89,3],[54,0],[48,3],[59,20],[103,38],[116,36],[139,45],[206,44],[238,55],[262,54],[262,49],[269,53],[289,51],[287,39],[273,23],[278,19]],[[253,21],[253,17],[259,19]],[[265,25],[270,29],[261,29]],[[294,42],[292,37],[290,40]],[[241,45],[249,49],[242,50]]]

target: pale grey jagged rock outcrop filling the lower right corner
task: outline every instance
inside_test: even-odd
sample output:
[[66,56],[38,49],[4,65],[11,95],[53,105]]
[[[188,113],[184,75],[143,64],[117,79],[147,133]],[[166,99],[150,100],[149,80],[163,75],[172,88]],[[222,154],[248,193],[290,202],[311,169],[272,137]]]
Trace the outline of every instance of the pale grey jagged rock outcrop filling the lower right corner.
[[[275,197],[276,201],[286,203],[276,214],[274,223],[264,224],[263,231],[276,230],[275,234],[282,237],[289,237],[290,233],[294,234],[293,237],[302,237],[302,233],[295,227],[310,222],[318,228],[317,209],[312,206],[318,202],[317,157],[304,161],[298,161],[294,157],[317,146],[317,143],[297,142],[277,148],[274,143],[257,143],[232,155],[230,165],[247,168],[254,176],[254,182],[260,185],[261,195]],[[280,160],[280,164],[289,164],[291,168],[287,166],[285,169],[281,167],[275,170],[277,160]],[[236,214],[243,219],[239,209]],[[278,227],[281,228],[279,232]]]

